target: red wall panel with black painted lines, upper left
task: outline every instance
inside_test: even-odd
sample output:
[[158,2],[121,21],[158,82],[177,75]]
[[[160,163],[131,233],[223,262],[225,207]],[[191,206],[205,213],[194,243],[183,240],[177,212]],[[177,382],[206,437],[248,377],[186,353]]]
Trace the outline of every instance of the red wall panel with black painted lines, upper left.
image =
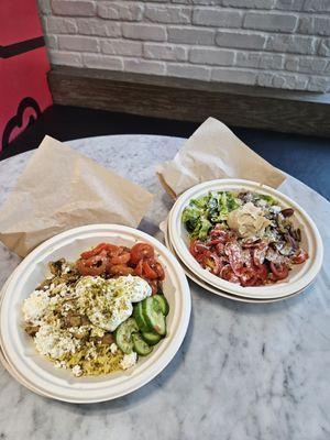
[[52,105],[35,0],[0,0],[0,152]]

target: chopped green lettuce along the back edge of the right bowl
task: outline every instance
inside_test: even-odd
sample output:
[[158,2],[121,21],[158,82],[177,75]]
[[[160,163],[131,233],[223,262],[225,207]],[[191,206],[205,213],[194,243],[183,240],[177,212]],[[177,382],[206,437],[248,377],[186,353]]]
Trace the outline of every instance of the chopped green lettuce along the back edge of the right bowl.
[[215,224],[224,223],[229,212],[246,201],[270,206],[277,204],[273,197],[258,193],[209,191],[206,196],[191,199],[183,212],[183,222],[190,239],[207,240]]

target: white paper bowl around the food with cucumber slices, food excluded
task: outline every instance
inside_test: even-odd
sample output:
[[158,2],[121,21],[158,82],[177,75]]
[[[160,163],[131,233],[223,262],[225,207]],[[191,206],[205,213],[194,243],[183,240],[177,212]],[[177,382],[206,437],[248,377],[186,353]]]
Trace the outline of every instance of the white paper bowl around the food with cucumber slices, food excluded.
[[[170,308],[167,337],[151,355],[140,358],[138,364],[127,372],[77,378],[69,372],[56,370],[50,361],[37,354],[33,341],[23,330],[21,307],[23,299],[46,276],[50,261],[59,257],[74,261],[82,251],[103,241],[128,246],[143,241],[155,248],[166,275],[163,288]],[[8,282],[0,310],[2,350],[15,375],[22,376],[32,388],[45,396],[72,403],[110,400],[140,388],[165,369],[184,340],[190,308],[186,276],[175,257],[157,240],[135,229],[116,224],[76,228],[35,249]]]

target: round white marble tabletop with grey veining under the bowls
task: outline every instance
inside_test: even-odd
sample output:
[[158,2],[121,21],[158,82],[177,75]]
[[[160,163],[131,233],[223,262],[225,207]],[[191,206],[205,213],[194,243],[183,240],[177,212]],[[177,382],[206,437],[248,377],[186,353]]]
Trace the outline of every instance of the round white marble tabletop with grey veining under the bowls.
[[[170,200],[154,175],[182,139],[105,136],[69,142],[156,195],[141,224],[157,235]],[[0,163],[0,202],[32,152]],[[237,304],[190,283],[193,316],[165,371],[113,402],[70,405],[36,396],[0,366],[0,439],[330,439],[330,205],[288,178],[280,189],[316,221],[324,265],[304,295],[271,305]],[[0,244],[0,287],[19,258]]]

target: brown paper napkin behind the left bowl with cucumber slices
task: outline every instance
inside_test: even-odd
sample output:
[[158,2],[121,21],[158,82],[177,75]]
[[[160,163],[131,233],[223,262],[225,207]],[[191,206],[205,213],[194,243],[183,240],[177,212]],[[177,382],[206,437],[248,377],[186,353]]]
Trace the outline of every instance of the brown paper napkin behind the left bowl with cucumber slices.
[[153,196],[45,136],[0,209],[0,240],[25,256],[44,240],[94,223],[138,227]]

